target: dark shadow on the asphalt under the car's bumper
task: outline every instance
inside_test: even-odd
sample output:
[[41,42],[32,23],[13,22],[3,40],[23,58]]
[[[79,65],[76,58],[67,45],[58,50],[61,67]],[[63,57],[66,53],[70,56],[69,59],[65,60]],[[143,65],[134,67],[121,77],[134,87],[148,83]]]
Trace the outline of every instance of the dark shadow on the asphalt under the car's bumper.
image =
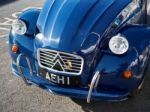
[[83,100],[72,100],[78,105],[81,105],[85,112],[150,112],[150,64],[146,71],[146,75],[141,93],[127,101],[96,101],[91,102],[91,104],[87,104],[86,101]]

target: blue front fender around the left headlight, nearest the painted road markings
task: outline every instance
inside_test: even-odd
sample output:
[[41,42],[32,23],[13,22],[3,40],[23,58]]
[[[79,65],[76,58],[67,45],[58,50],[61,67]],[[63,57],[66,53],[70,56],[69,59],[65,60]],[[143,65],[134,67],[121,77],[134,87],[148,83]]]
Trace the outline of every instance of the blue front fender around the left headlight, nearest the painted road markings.
[[[24,52],[29,56],[33,55],[34,52],[34,36],[37,33],[37,19],[41,9],[30,8],[22,12],[18,19],[23,20],[27,25],[27,32],[25,35],[16,35],[12,31],[9,34],[9,53],[12,55],[13,60],[16,60],[17,54],[12,53],[11,47],[15,43],[19,46],[19,52]],[[29,38],[27,38],[29,37]]]

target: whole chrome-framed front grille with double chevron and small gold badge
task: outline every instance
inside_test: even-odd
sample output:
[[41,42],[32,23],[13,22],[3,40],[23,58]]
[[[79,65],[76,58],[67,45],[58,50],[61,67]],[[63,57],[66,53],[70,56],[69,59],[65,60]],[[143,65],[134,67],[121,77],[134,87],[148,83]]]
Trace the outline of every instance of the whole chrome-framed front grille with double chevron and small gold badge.
[[80,75],[83,69],[83,58],[78,55],[40,48],[37,56],[40,67],[52,72]]

